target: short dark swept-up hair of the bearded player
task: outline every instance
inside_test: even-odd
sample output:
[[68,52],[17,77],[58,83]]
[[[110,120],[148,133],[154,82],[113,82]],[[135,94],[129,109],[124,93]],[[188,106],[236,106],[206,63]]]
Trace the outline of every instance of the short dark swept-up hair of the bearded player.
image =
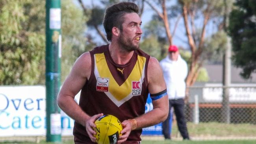
[[111,41],[113,27],[117,27],[122,31],[123,17],[127,13],[139,13],[138,6],[132,2],[120,2],[106,9],[103,26],[107,33],[108,41]]

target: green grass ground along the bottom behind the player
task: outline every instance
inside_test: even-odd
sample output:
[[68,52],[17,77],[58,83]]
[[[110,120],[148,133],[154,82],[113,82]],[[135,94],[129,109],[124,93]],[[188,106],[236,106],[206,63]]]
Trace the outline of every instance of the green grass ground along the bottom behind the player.
[[[256,144],[255,124],[223,124],[217,122],[193,124],[188,122],[187,127],[191,137],[189,141],[182,141],[177,125],[173,123],[172,140],[164,140],[163,136],[142,136],[141,144]],[[59,144],[74,144],[72,139],[72,136],[62,137],[63,142]],[[0,137],[0,144],[58,143],[45,142],[45,137]]]

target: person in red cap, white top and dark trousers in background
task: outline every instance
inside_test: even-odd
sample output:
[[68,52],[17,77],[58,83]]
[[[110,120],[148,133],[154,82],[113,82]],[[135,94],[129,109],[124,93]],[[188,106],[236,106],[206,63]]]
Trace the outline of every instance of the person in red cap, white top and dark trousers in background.
[[169,97],[169,114],[167,119],[162,123],[163,135],[165,139],[171,139],[169,120],[171,118],[171,107],[173,107],[180,134],[183,139],[189,139],[186,118],[184,115],[187,63],[180,56],[177,46],[172,45],[169,47],[168,55],[165,59],[160,61],[160,66],[163,70],[163,76]]

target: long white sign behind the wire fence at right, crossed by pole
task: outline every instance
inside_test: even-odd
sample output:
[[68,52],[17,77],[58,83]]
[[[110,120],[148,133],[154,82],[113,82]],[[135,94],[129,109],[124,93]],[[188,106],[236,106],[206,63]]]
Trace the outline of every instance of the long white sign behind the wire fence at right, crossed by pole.
[[[222,84],[206,84],[205,87],[217,87],[217,88],[203,88],[203,98],[206,101],[222,101],[223,89]],[[232,84],[232,86],[243,86],[243,84]],[[244,84],[244,86],[250,86],[248,88],[229,88],[229,100],[230,102],[256,102],[256,85]],[[254,87],[255,86],[255,87]]]

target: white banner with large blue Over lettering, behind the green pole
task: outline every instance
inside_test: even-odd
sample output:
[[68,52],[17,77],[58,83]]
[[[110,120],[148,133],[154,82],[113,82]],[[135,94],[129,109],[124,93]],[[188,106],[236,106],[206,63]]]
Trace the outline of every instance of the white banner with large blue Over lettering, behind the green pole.
[[[44,86],[0,87],[0,136],[46,135],[45,95]],[[61,134],[72,135],[74,120],[62,111],[51,118],[56,127],[51,132],[60,133],[56,118],[61,119]]]

